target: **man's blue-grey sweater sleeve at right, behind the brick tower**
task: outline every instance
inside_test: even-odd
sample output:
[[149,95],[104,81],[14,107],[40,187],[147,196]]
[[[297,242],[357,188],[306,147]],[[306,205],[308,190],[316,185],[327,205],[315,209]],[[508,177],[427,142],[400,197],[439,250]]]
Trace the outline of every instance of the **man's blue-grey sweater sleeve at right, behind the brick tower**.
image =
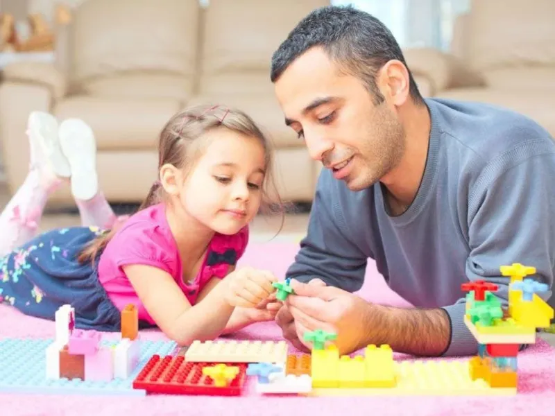
[[[509,277],[500,266],[522,263],[536,268],[529,276],[548,284],[538,293],[552,295],[555,266],[555,146],[549,141],[527,141],[488,164],[468,198],[466,261],[469,281],[497,284],[502,306],[508,304]],[[452,327],[446,356],[476,354],[477,341],[463,322],[465,299],[447,306]]]

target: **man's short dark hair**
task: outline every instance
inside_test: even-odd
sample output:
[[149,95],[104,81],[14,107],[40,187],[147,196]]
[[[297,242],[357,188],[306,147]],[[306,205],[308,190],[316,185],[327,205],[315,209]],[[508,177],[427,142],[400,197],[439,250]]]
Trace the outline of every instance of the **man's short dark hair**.
[[[325,6],[302,19],[273,53],[272,83],[314,46],[323,47],[341,71],[364,82],[375,104],[384,101],[376,85],[377,71],[389,60],[399,60],[408,69],[399,44],[381,21],[352,6]],[[410,70],[409,92],[413,101],[423,101]]]

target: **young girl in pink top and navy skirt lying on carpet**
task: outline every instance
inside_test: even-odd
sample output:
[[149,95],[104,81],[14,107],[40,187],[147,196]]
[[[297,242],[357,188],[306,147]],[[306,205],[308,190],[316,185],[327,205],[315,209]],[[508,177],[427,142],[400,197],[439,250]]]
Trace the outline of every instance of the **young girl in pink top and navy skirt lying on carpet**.
[[[4,302],[51,320],[71,304],[76,327],[101,331],[119,331],[121,309],[135,304],[140,327],[160,327],[180,345],[273,320],[275,277],[234,270],[248,223],[271,204],[272,156],[248,116],[218,106],[173,116],[160,135],[158,179],[114,227],[92,130],[69,120],[58,131],[53,117],[34,113],[28,135],[28,177],[0,217],[3,248],[11,245],[0,258]],[[34,236],[47,197],[68,177],[83,227]]]

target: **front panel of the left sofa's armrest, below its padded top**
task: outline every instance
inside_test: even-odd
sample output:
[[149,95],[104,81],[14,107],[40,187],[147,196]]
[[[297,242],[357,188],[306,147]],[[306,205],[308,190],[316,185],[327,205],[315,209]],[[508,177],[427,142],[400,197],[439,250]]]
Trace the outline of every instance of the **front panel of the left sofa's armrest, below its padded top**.
[[10,193],[17,191],[29,171],[27,119],[33,111],[51,112],[52,94],[41,85],[0,84],[0,156]]

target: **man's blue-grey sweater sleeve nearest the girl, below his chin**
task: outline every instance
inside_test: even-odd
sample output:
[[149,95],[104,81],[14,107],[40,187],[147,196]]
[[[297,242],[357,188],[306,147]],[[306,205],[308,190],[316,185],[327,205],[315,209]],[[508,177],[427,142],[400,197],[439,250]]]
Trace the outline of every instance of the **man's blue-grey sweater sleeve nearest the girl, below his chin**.
[[337,184],[330,173],[323,171],[309,216],[307,236],[300,242],[295,261],[286,277],[307,282],[319,278],[328,286],[344,291],[358,291],[364,283],[368,257],[345,236],[345,225]]

